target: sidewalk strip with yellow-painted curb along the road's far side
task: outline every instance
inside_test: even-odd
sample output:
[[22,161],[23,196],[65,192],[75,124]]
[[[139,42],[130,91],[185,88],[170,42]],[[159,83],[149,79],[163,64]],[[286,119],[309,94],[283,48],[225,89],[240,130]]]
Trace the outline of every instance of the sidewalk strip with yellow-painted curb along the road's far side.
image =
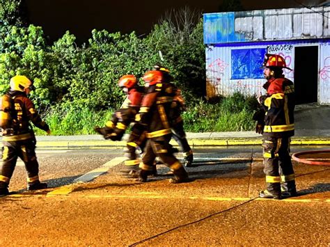
[[[330,131],[297,130],[292,137],[292,145],[330,145]],[[306,134],[306,135],[304,135]],[[126,145],[127,134],[123,141],[104,140],[100,135],[81,136],[37,136],[38,148],[122,148]],[[262,136],[255,132],[205,132],[187,133],[192,147],[226,145],[261,145]],[[171,144],[178,145],[175,141]]]

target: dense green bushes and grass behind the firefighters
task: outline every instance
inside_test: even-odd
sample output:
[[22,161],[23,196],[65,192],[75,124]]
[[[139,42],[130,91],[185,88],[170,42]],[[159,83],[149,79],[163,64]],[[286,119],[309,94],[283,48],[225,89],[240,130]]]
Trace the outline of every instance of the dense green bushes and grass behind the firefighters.
[[156,63],[168,67],[182,89],[188,105],[183,114],[187,131],[250,128],[253,100],[235,94],[216,104],[203,101],[205,46],[199,13],[175,12],[143,38],[134,32],[93,30],[88,44],[79,47],[68,31],[48,44],[40,26],[10,21],[21,1],[0,3],[7,4],[1,5],[0,17],[10,13],[0,28],[0,92],[8,90],[16,74],[33,79],[36,90],[31,98],[40,112],[48,112],[45,118],[53,134],[92,134],[93,127],[104,125],[125,98],[118,79],[124,74],[140,79]]

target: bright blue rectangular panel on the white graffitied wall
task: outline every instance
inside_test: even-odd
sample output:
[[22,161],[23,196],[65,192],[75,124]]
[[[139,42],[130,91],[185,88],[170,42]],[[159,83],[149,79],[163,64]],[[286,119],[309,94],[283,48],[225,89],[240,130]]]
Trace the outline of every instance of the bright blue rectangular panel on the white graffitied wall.
[[231,50],[231,79],[260,79],[262,78],[262,61],[265,48],[232,49]]

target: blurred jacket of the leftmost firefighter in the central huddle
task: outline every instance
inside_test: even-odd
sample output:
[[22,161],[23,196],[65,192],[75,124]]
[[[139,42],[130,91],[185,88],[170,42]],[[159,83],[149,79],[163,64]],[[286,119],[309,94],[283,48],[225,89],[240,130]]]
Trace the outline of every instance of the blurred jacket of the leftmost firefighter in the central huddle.
[[129,124],[134,122],[135,115],[140,109],[143,90],[144,88],[141,86],[129,89],[127,98],[120,106],[120,109],[113,113],[111,121],[106,123],[107,127],[113,129],[113,133],[111,134],[113,141],[120,140]]

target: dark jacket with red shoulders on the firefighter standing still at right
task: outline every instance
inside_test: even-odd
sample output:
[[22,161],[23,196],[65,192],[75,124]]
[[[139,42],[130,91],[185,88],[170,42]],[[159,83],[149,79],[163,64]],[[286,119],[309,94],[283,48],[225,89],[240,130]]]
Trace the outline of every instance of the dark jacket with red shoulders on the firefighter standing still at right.
[[263,136],[285,138],[294,135],[294,86],[284,77],[269,79],[267,95],[260,97],[265,109]]

